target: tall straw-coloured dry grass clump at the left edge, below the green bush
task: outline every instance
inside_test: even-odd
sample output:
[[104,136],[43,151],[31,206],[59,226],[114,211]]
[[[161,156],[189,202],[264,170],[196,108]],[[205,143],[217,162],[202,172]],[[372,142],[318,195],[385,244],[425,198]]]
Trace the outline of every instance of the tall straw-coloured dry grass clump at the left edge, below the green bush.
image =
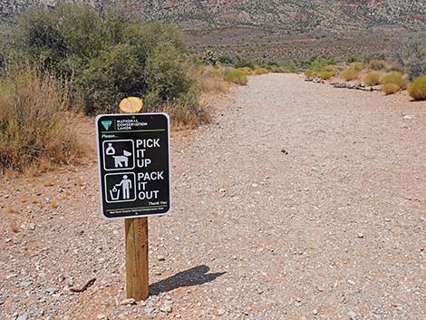
[[71,86],[28,68],[0,79],[0,172],[84,155],[70,123]]

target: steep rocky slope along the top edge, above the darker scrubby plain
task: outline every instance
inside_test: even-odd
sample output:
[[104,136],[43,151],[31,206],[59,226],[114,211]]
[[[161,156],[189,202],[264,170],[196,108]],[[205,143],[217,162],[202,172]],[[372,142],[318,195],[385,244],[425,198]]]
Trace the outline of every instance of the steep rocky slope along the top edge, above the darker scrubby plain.
[[[0,15],[10,18],[29,5],[54,5],[57,0],[2,0]],[[166,19],[186,29],[221,26],[257,27],[289,34],[327,31],[340,34],[371,27],[421,29],[426,25],[426,0],[88,0],[145,19]]]

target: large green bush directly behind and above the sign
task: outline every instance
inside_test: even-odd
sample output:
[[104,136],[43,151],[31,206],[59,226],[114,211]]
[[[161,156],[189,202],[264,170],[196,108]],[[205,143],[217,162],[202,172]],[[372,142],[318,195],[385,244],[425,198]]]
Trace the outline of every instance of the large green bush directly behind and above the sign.
[[14,43],[11,61],[73,75],[87,113],[116,111],[126,96],[144,98],[149,110],[166,103],[195,108],[195,78],[183,34],[173,25],[123,21],[90,5],[61,3],[24,13]]

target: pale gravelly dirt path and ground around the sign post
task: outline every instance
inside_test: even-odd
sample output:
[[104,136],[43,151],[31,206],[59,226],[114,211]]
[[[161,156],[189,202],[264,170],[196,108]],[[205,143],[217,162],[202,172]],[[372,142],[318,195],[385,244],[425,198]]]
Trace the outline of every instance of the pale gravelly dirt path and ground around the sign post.
[[0,318],[425,319],[426,102],[269,74],[217,110],[172,140],[146,304],[95,164],[4,181]]

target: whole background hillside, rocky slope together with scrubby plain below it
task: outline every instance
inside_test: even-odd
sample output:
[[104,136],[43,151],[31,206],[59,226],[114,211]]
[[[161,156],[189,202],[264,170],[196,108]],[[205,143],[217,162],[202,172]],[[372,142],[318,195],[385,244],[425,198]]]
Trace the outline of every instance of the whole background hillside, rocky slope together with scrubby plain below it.
[[[75,0],[74,0],[75,1]],[[289,62],[392,52],[399,40],[426,30],[426,0],[88,0],[144,20],[179,24],[191,51]],[[57,0],[3,0],[2,32],[26,7]],[[421,36],[415,35],[415,36]]]

